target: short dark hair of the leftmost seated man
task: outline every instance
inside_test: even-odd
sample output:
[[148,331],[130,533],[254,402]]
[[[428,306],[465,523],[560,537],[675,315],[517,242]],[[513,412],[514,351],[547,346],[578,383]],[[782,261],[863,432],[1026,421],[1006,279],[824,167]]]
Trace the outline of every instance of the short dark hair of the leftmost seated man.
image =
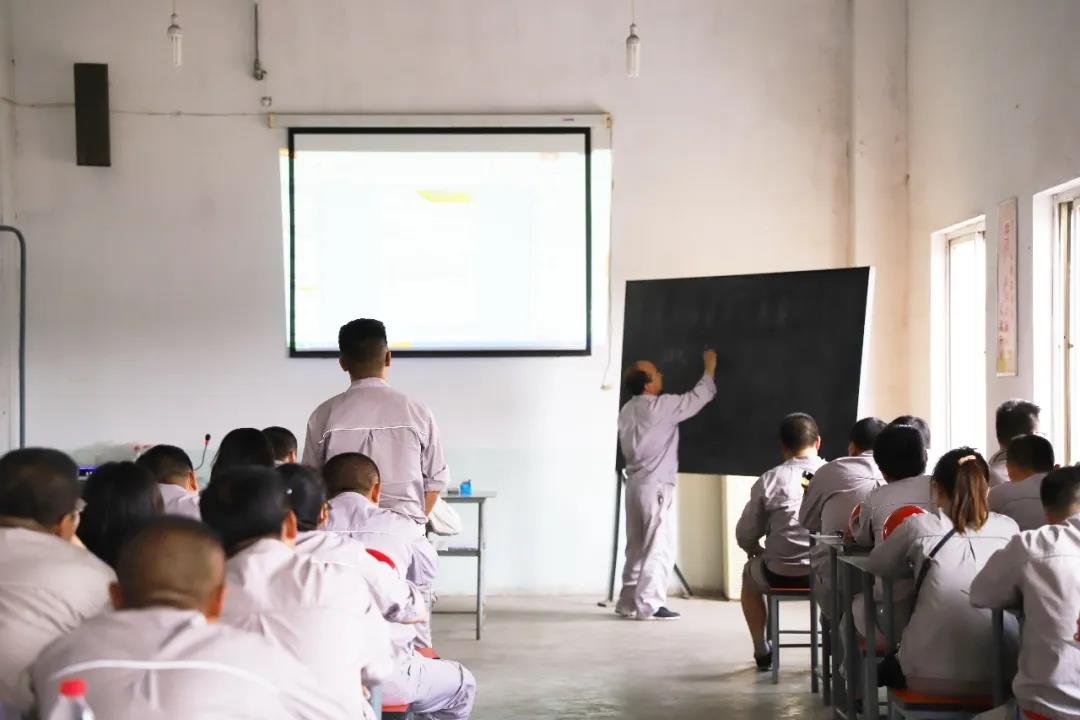
[[79,503],[79,467],[59,450],[24,448],[0,458],[0,515],[46,528]]

